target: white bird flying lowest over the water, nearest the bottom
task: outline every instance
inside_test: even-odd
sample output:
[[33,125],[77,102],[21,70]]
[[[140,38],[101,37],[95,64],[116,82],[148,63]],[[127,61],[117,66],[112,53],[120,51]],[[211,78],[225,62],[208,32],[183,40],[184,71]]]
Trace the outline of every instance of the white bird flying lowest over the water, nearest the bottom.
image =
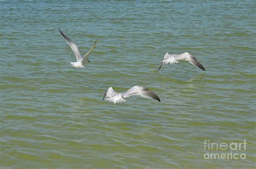
[[124,93],[115,92],[112,89],[112,87],[109,87],[107,88],[104,94],[103,100],[106,100],[108,102],[113,102],[114,104],[124,103],[126,102],[124,98],[130,97],[130,96],[142,96],[145,98],[153,98],[161,102],[156,93],[154,93],[149,89],[146,89],[146,87],[143,87],[143,86],[133,86],[131,87],[131,89],[127,90]]

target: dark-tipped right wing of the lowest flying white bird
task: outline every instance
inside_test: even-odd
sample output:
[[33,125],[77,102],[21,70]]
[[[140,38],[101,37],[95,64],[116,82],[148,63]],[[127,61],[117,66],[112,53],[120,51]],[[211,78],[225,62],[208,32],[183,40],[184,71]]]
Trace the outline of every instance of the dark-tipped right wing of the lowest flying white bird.
[[157,96],[156,93],[154,93],[149,89],[146,89],[146,87],[143,87],[143,86],[133,86],[131,87],[131,89],[127,90],[123,94],[124,98],[130,97],[130,96],[142,96],[145,98],[153,98],[160,102],[160,98]]

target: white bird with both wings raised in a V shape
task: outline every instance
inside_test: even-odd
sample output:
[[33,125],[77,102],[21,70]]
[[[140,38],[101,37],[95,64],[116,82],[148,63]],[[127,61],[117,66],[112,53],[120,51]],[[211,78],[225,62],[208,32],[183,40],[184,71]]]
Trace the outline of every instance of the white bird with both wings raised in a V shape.
[[77,58],[77,62],[69,62],[69,64],[72,65],[73,67],[76,67],[79,69],[84,69],[83,64],[85,63],[85,61],[90,62],[88,60],[88,57],[89,57],[90,53],[93,51],[93,49],[95,49],[98,39],[92,45],[92,48],[85,54],[84,58],[82,58],[77,45],[75,43],[73,43],[72,40],[68,36],[66,36],[65,33],[63,33],[60,29],[59,29],[59,32],[62,34],[62,36],[64,37],[66,42],[68,42],[68,44],[70,45],[70,48],[73,50],[73,52],[75,53],[76,58]]

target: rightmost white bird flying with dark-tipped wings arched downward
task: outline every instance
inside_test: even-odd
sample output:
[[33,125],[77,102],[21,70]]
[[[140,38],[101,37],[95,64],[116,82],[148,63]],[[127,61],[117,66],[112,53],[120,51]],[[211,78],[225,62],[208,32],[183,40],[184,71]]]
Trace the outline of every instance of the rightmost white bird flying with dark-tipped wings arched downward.
[[200,62],[198,62],[198,60],[194,56],[190,55],[190,53],[188,52],[181,53],[180,55],[170,55],[168,52],[165,53],[164,60],[161,61],[161,64],[157,71],[159,71],[164,66],[164,64],[178,64],[179,62],[177,60],[187,60],[192,65],[198,66],[201,70],[205,71],[204,66],[201,65]]

